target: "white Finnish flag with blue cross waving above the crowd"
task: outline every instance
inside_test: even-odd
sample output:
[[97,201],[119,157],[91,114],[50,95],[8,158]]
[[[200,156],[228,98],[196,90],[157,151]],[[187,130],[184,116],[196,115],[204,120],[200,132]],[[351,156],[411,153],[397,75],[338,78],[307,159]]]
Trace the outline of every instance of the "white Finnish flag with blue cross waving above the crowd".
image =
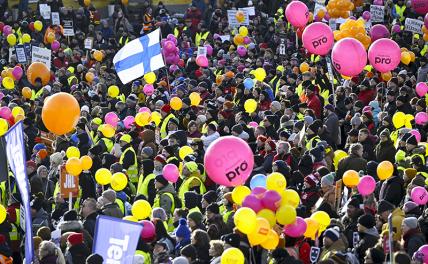
[[113,63],[120,80],[124,84],[164,67],[160,30],[156,29],[126,44],[116,53]]

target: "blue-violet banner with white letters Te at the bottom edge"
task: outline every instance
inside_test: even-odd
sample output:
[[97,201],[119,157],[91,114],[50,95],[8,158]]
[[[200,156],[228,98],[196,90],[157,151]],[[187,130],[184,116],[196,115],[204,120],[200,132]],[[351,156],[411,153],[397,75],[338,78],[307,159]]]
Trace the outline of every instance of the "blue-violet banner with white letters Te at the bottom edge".
[[132,263],[143,226],[119,218],[100,215],[95,226],[93,253],[104,263]]

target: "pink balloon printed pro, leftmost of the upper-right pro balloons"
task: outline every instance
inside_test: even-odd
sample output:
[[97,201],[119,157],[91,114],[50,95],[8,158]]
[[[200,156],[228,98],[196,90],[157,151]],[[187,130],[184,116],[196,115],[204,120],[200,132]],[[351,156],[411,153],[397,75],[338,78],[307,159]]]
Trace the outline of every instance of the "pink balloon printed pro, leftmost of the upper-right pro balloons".
[[310,53],[326,55],[334,44],[331,28],[324,23],[315,22],[305,28],[302,34],[303,47]]

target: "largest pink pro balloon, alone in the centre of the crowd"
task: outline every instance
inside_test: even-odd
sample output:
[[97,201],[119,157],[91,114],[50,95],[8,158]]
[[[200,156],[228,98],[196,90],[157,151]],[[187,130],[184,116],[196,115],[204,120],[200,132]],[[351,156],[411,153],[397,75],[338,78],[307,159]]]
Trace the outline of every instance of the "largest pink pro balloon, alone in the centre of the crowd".
[[254,156],[244,140],[226,136],[210,144],[204,157],[207,175],[215,183],[238,186],[245,183],[254,167]]

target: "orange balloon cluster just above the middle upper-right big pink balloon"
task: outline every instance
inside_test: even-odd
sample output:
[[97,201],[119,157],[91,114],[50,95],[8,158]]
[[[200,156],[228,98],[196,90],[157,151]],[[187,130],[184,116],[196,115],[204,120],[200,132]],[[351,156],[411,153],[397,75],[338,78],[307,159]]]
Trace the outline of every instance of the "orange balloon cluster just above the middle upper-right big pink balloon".
[[365,49],[368,49],[372,42],[366,33],[365,22],[362,18],[358,20],[347,19],[345,23],[340,25],[339,30],[335,30],[333,34],[336,41],[344,38],[355,38],[364,45]]

